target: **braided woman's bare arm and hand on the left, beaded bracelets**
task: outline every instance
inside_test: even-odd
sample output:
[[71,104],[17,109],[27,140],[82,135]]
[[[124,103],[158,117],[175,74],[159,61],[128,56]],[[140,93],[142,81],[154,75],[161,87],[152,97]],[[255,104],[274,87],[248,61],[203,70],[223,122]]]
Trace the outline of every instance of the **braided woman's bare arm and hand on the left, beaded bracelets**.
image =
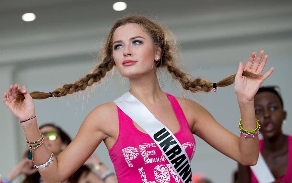
[[[18,92],[24,94],[25,100],[20,103],[15,103]],[[7,96],[9,101],[7,100]],[[14,86],[11,85],[8,92],[4,93],[3,101],[20,121],[25,121],[31,116],[35,116],[34,102],[25,86],[18,88],[17,84]],[[49,166],[38,170],[44,182],[62,182],[66,180],[90,157],[100,142],[108,137],[103,132],[103,129],[106,128],[104,122],[110,116],[107,115],[110,107],[111,105],[107,103],[91,111],[83,121],[76,137],[65,150],[58,157],[53,157],[53,161]],[[21,125],[27,141],[34,142],[41,137],[37,118],[25,121]],[[36,165],[46,163],[50,159],[50,156],[51,152],[44,144],[32,153],[32,158]]]

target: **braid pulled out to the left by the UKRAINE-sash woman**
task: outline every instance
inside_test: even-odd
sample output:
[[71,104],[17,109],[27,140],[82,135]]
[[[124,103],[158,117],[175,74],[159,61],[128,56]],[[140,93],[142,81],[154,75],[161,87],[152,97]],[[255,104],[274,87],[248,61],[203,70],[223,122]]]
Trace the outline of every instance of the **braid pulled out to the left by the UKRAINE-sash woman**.
[[[63,87],[57,87],[52,93],[55,97],[66,96],[67,94],[73,94],[81,90],[85,90],[88,86],[91,86],[95,82],[102,80],[108,71],[114,67],[114,62],[109,56],[103,59],[103,62],[99,64],[92,73],[87,74],[85,77],[80,78],[71,84],[65,84]],[[45,92],[31,92],[29,93],[32,96],[32,99],[46,99],[51,96],[50,93]],[[23,94],[18,94],[16,102],[24,100]]]

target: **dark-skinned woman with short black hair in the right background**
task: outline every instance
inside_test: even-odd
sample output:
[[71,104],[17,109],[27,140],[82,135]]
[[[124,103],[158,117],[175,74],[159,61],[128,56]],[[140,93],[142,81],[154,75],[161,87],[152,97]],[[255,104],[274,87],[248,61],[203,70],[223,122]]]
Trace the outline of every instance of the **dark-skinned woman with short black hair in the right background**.
[[[275,87],[261,87],[255,96],[256,118],[260,120],[263,139],[260,152],[277,182],[292,181],[292,136],[283,134],[286,111]],[[248,166],[239,164],[240,182],[258,183]]]

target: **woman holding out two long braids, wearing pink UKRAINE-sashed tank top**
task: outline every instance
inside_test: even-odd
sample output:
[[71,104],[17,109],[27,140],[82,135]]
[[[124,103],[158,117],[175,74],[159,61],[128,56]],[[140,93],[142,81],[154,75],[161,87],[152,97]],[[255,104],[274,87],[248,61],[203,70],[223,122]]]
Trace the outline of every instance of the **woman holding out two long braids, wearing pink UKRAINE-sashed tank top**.
[[[72,84],[58,87],[51,93],[29,94],[25,86],[11,85],[8,92],[4,93],[3,101],[20,121],[24,121],[21,125],[27,140],[36,141],[41,134],[37,127],[33,99],[61,97],[84,90],[94,82],[102,80],[115,66],[122,76],[129,79],[128,94],[145,105],[155,119],[174,134],[185,150],[182,152],[181,149],[171,148],[172,151],[166,153],[173,156],[164,155],[144,128],[114,102],[109,102],[97,106],[88,114],[72,143],[58,157],[54,157],[54,161],[50,162],[52,156],[46,146],[41,145],[33,151],[34,164],[43,165],[50,162],[46,168],[39,169],[46,182],[66,180],[88,159],[101,141],[104,141],[109,150],[119,182],[182,182],[179,177],[182,175],[175,172],[179,171],[176,168],[183,168],[177,167],[182,162],[180,157],[174,157],[182,152],[187,154],[187,159],[192,159],[195,147],[193,134],[241,164],[256,164],[259,154],[256,135],[253,138],[238,137],[219,125],[198,103],[164,93],[159,86],[156,72],[160,68],[166,68],[184,89],[191,92],[209,92],[217,86],[231,85],[235,81],[234,90],[242,125],[245,130],[251,131],[258,128],[254,114],[254,95],[274,69],[271,68],[261,75],[267,55],[263,56],[262,50],[255,59],[256,53],[252,52],[245,66],[242,62],[239,63],[236,75],[217,84],[200,78],[190,80],[187,74],[176,66],[173,55],[174,42],[168,40],[166,32],[166,29],[142,16],[134,15],[120,19],[109,32],[103,49],[102,63],[94,68],[92,73]],[[136,112],[137,115],[143,113],[144,111]],[[149,126],[152,124],[149,123]],[[164,144],[166,150],[172,142]],[[166,156],[173,161],[166,160]],[[186,172],[190,173],[189,170]]]

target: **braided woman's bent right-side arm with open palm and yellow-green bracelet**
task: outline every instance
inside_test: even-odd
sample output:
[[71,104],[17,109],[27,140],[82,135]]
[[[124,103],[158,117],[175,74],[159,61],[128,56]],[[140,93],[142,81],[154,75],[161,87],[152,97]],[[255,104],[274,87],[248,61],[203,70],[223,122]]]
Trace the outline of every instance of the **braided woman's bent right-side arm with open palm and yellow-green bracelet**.
[[[263,54],[264,51],[260,51],[254,61],[256,53],[251,53],[245,67],[240,62],[234,79],[234,90],[241,114],[239,117],[242,119],[242,126],[245,130],[254,130],[257,126],[253,99],[260,85],[270,76],[274,68],[271,68],[259,78],[242,76],[242,73],[243,71],[249,71],[261,75],[268,58],[265,55],[261,62]],[[191,108],[195,109],[195,112],[192,110],[191,115],[194,117],[190,125],[193,133],[197,134],[221,153],[243,165],[256,164],[259,155],[258,136],[255,138],[245,138],[242,135],[238,137],[218,124],[204,107],[193,101],[192,106]],[[234,121],[233,124],[237,128],[238,121]]]

